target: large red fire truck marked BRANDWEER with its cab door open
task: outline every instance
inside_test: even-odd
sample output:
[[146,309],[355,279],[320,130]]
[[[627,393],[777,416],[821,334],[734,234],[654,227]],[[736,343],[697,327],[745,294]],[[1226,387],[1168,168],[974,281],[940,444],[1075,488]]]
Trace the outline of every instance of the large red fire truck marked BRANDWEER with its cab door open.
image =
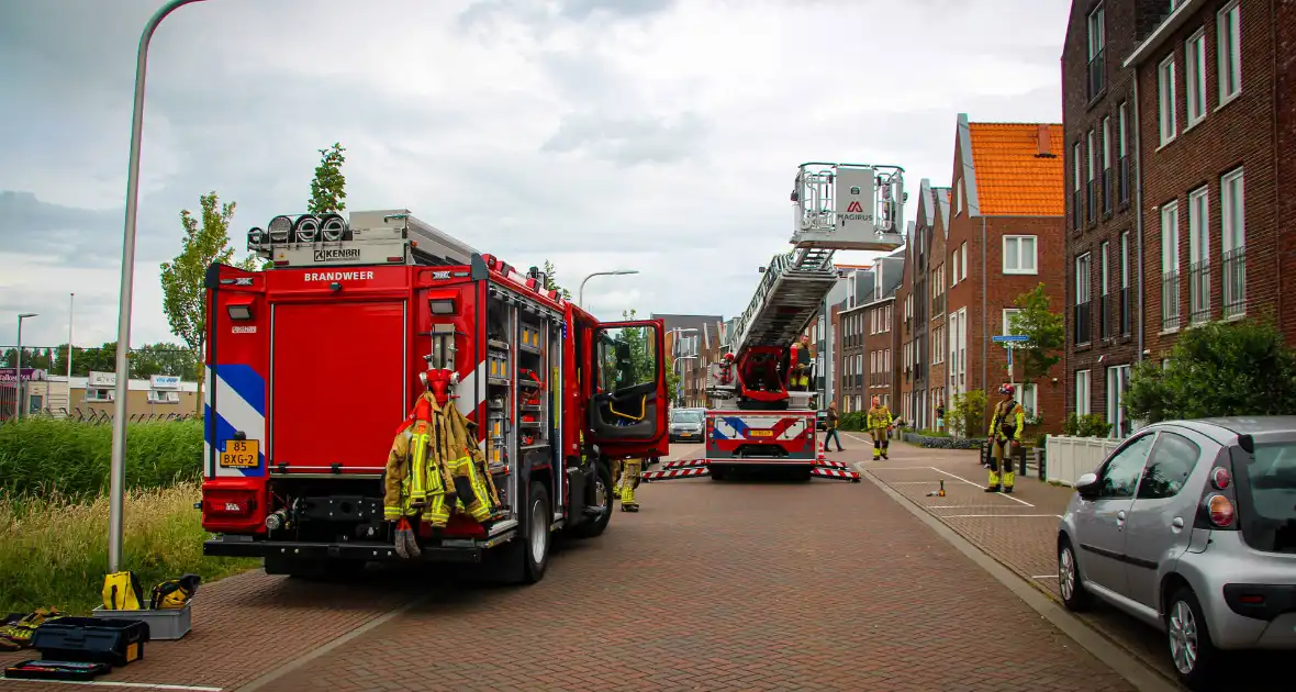
[[661,320],[600,323],[407,210],[280,215],[248,244],[266,271],[206,276],[205,555],[399,560],[384,473],[429,369],[452,373],[503,507],[417,522],[424,560],[534,583],[555,535],[608,526],[613,459],[667,452]]

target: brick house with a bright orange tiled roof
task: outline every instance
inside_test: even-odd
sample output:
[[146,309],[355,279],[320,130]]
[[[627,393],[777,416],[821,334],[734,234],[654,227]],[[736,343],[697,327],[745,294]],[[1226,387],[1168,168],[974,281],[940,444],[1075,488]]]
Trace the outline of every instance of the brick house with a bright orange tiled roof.
[[[959,114],[951,175],[953,205],[943,255],[947,382],[956,394],[982,390],[990,400],[1008,377],[1007,351],[991,342],[1011,330],[1016,298],[1043,284],[1054,310],[1065,292],[1065,193],[1060,124],[969,123]],[[947,281],[947,284],[945,284]],[[934,311],[934,306],[933,306]],[[1041,417],[1038,430],[1061,429],[1064,367],[1020,386],[1017,399]],[[989,421],[989,407],[986,421]]]

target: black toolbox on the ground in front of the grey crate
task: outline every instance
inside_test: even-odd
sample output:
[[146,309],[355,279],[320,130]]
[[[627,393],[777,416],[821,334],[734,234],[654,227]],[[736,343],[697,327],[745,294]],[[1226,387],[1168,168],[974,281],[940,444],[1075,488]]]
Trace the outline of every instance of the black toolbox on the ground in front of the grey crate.
[[149,625],[139,619],[62,617],[36,627],[31,648],[47,661],[124,666],[144,658]]

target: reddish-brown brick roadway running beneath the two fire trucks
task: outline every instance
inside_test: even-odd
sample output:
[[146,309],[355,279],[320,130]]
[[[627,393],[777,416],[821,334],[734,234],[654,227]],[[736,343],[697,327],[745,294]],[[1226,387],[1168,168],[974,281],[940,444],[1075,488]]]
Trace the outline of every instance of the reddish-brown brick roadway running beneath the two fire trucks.
[[699,478],[639,498],[640,513],[566,544],[529,588],[420,573],[207,584],[184,640],[101,679],[228,691],[266,676],[259,689],[338,692],[1133,689],[870,482]]

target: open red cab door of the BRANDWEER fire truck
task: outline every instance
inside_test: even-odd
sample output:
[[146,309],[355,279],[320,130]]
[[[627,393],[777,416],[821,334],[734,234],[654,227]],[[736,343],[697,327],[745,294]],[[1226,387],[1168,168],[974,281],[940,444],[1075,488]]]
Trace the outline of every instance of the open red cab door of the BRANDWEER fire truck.
[[662,320],[595,323],[584,330],[590,442],[609,459],[665,456]]

